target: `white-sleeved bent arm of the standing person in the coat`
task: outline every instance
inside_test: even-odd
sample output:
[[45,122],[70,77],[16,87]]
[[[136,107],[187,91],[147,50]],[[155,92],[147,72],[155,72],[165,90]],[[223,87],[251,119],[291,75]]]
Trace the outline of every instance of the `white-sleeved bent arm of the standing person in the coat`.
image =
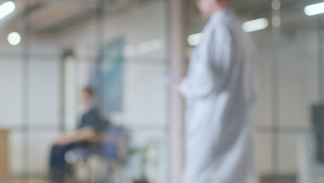
[[179,84],[185,98],[201,98],[222,85],[231,62],[232,39],[225,26],[207,33],[199,45],[195,67]]

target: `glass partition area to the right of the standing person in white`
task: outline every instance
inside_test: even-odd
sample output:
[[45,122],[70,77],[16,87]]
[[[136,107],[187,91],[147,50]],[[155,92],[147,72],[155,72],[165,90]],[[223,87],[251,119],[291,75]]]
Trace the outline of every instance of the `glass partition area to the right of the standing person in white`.
[[[261,182],[316,182],[323,177],[316,157],[323,130],[321,125],[318,133],[313,130],[323,113],[323,15],[309,16],[321,10],[306,8],[316,3],[321,1],[233,1],[242,24],[265,21],[260,30],[248,33],[258,58],[255,137]],[[188,11],[190,36],[206,22],[194,2]]]

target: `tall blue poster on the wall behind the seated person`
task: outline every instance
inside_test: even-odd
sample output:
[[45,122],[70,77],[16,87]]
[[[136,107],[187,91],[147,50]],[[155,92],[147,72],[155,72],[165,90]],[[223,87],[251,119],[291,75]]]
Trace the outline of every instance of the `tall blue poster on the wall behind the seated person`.
[[96,91],[103,112],[123,111],[124,39],[109,42],[96,60]]

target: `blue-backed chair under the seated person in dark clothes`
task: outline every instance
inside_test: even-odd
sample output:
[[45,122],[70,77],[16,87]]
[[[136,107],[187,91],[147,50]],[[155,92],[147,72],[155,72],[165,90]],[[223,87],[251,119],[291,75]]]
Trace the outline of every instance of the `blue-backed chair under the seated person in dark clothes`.
[[69,164],[67,182],[117,183],[127,161],[127,131],[110,125],[105,133],[91,140],[96,148],[75,148],[65,154]]

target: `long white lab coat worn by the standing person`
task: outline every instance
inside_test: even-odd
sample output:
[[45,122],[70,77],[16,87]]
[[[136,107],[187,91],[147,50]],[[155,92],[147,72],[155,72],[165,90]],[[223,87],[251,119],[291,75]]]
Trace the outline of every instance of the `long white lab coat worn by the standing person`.
[[186,98],[184,183],[256,183],[251,42],[231,10],[203,30],[180,85]]

